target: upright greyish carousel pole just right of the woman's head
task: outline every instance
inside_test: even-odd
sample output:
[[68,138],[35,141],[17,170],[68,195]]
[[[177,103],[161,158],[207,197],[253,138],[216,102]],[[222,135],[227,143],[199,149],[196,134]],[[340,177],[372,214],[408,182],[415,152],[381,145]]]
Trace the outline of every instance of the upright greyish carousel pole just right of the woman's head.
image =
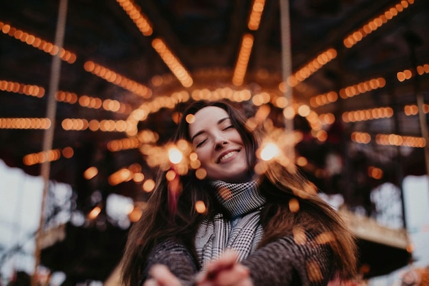
[[[292,87],[289,84],[289,77],[292,73],[292,56],[291,56],[291,21],[289,16],[289,0],[280,1],[280,32],[282,37],[282,81],[284,84],[283,96],[287,100],[287,106],[292,106]],[[284,119],[286,132],[293,132],[293,118]],[[288,157],[295,161],[295,146],[291,145],[289,150],[286,150]]]

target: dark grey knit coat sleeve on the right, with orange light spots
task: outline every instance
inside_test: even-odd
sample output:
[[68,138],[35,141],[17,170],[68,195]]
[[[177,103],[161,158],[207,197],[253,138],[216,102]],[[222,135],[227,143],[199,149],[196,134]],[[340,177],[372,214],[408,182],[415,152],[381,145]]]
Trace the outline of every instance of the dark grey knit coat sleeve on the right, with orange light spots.
[[242,263],[249,268],[254,286],[327,285],[332,255],[328,244],[295,243],[291,235],[262,246]]

